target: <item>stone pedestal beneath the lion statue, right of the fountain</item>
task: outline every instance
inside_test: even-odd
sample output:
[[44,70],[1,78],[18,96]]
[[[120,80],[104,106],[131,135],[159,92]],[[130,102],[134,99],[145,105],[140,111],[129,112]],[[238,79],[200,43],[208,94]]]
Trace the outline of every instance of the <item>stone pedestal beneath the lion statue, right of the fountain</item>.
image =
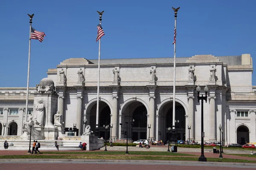
[[86,143],[86,150],[99,150],[104,146],[104,139],[98,139],[97,136],[81,136],[81,142]]

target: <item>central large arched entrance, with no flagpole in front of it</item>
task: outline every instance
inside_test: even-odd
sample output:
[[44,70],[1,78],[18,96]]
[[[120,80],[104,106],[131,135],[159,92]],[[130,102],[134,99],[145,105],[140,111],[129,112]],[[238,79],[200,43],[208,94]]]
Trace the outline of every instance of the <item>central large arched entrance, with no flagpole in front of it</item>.
[[[134,122],[131,125],[133,119]],[[131,101],[127,103],[125,108],[122,109],[122,122],[120,122],[123,124],[122,127],[126,127],[125,122],[128,122],[128,132],[126,132],[126,128],[122,128],[119,138],[126,139],[128,137],[133,141],[147,139],[148,112],[142,102]]]

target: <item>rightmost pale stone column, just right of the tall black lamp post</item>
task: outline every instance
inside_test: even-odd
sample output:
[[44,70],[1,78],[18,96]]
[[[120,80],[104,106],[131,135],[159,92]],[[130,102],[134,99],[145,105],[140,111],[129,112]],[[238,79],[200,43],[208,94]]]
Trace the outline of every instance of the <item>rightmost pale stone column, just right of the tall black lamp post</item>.
[[209,140],[211,142],[216,141],[216,124],[215,124],[215,96],[208,97],[210,102],[210,114],[209,114]]

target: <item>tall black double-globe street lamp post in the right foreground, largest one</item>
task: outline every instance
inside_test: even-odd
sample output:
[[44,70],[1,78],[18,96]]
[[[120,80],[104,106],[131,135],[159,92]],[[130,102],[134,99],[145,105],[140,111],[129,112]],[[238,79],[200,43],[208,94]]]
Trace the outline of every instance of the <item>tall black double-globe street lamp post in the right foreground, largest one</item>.
[[198,85],[196,87],[196,91],[198,92],[198,103],[201,100],[201,156],[199,157],[198,161],[206,162],[207,159],[204,156],[204,100],[207,102],[207,93],[209,88],[207,85],[204,87],[205,96],[200,96],[201,87]]

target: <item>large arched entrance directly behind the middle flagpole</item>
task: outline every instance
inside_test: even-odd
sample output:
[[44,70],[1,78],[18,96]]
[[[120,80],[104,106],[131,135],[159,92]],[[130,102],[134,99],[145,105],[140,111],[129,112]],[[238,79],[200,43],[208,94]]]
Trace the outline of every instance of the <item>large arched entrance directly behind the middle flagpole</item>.
[[[96,129],[96,109],[97,103],[96,101],[93,102],[90,108],[87,109],[86,113],[90,115],[90,120],[87,120],[87,125],[91,126],[91,130],[95,132]],[[87,118],[88,119],[88,118]],[[103,137],[106,139],[105,136],[105,128],[103,125],[110,125],[111,123],[111,109],[107,103],[100,101],[99,102],[99,137]],[[110,138],[110,128],[107,130],[108,138]]]

